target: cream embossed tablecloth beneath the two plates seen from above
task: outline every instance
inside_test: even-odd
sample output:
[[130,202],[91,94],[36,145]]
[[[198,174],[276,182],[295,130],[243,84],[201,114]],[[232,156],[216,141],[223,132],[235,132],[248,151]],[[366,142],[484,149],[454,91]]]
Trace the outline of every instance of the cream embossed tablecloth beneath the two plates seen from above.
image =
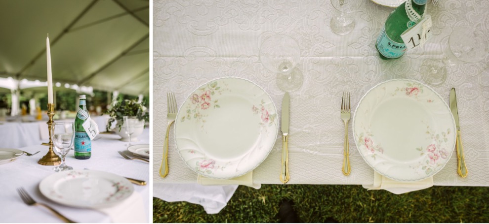
[[[350,122],[352,172],[341,172],[343,123],[340,103],[343,91],[352,93],[352,108],[376,84],[408,78],[422,81],[419,66],[425,59],[441,59],[454,27],[470,26],[489,36],[489,1],[443,0],[439,7],[428,2],[434,36],[424,47],[403,58],[382,61],[375,50],[385,19],[393,10],[362,0],[356,27],[347,35],[331,32],[333,8],[328,0],[306,1],[185,1],[155,0],[153,12],[154,77],[153,141],[155,183],[196,183],[175,149],[173,127],[169,137],[169,168],[165,179],[158,170],[166,131],[166,92],[174,92],[180,106],[205,82],[226,76],[249,79],[265,89],[281,111],[284,92],[276,75],[260,63],[259,46],[268,36],[286,34],[301,47],[298,65],[304,85],[290,93],[289,171],[287,184],[371,184],[373,170],[355,148]],[[489,186],[489,59],[448,68],[448,79],[433,88],[448,101],[457,90],[462,142],[469,175],[456,174],[456,157],[434,176],[435,185]],[[281,138],[281,136],[277,136]],[[279,180],[282,145],[278,139],[269,157],[253,171],[261,184]]]

